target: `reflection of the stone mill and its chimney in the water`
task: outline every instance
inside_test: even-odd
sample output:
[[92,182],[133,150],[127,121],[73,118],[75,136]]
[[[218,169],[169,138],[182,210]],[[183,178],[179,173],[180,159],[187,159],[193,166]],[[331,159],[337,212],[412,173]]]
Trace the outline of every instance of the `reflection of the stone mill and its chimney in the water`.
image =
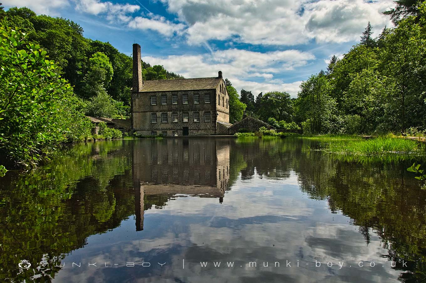
[[223,196],[229,181],[229,141],[143,140],[133,149],[136,230],[143,230],[144,196]]

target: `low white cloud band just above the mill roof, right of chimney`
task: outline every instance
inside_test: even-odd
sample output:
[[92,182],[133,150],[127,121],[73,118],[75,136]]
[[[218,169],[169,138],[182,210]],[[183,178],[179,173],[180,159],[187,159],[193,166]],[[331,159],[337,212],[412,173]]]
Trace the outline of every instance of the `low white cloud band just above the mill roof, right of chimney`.
[[[293,97],[299,90],[299,81],[284,84],[274,75],[283,70],[305,66],[315,57],[309,52],[285,50],[253,52],[240,49],[213,51],[203,55],[171,55],[165,58],[146,56],[142,60],[151,65],[163,65],[186,78],[213,77],[222,70],[237,90],[242,88],[257,94],[273,90],[287,91]],[[262,82],[245,81],[242,78],[263,78]]]

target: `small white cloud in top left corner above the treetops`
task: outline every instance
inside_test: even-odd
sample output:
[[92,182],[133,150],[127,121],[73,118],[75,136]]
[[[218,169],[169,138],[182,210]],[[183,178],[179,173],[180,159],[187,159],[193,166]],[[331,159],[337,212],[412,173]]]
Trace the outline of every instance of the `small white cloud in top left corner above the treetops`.
[[69,5],[68,0],[2,0],[6,7],[27,7],[37,14],[58,15],[58,10]]

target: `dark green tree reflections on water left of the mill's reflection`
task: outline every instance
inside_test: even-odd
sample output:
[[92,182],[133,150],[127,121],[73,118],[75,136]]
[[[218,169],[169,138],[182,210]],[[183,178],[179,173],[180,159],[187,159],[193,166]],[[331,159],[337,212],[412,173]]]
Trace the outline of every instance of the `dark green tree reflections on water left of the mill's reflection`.
[[[49,282],[65,254],[134,213],[131,161],[120,152],[123,142],[77,144],[33,173],[10,172],[2,179],[0,279],[40,274],[35,281]],[[19,273],[23,259],[33,266]],[[37,270],[41,261],[49,268]]]

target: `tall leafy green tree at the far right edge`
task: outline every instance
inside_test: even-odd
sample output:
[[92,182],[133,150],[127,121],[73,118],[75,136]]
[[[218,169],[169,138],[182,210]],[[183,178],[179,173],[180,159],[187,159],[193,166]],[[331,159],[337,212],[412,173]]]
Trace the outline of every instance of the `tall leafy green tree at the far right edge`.
[[385,113],[402,131],[425,126],[426,4],[421,8],[418,18],[398,22],[383,38],[380,50],[380,71],[387,88]]

